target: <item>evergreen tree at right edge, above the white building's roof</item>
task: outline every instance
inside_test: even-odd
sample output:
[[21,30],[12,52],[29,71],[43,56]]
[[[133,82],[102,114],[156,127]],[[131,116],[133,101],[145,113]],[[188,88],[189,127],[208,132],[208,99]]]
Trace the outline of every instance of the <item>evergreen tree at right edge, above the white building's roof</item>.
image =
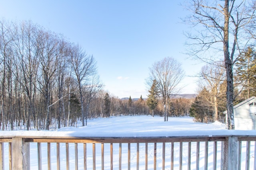
[[256,96],[256,53],[248,47],[236,64],[236,80],[242,86],[243,100]]

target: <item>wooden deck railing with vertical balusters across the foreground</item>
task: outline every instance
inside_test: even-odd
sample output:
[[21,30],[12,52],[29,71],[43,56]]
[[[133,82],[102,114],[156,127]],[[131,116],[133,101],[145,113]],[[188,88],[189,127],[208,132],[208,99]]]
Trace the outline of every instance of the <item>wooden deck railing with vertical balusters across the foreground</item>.
[[[69,164],[69,144],[74,143],[75,145],[75,161],[76,167],[78,169],[78,143],[84,144],[84,169],[87,168],[87,156],[86,156],[86,144],[91,143],[93,147],[93,169],[96,169],[96,144],[101,144],[101,164],[102,170],[104,169],[104,144],[110,144],[110,169],[113,169],[113,144],[119,143],[119,161],[118,166],[119,169],[122,166],[122,144],[128,144],[128,169],[131,168],[131,143],[135,143],[137,146],[136,150],[136,160],[137,162],[136,168],[139,168],[139,156],[140,152],[138,147],[144,143],[145,145],[145,169],[148,169],[148,143],[154,143],[154,169],[156,169],[156,146],[157,143],[162,144],[162,168],[166,166],[165,162],[165,153],[166,153],[166,143],[171,143],[171,164],[170,168],[174,169],[174,143],[179,144],[179,162],[180,162],[180,169],[182,168],[182,153],[183,153],[183,145],[187,143],[188,145],[188,169],[191,167],[191,143],[196,143],[196,169],[199,169],[199,153],[200,153],[200,142],[204,143],[204,150],[205,150],[205,169],[208,169],[208,149],[209,149],[209,142],[213,142],[213,169],[216,170],[216,159],[217,159],[217,142],[221,142],[221,165],[220,167],[223,170],[236,170],[238,167],[241,166],[241,142],[248,141],[246,143],[246,167],[249,167],[250,163],[250,141],[256,141],[256,135],[215,135],[215,136],[206,136],[206,135],[196,135],[196,136],[174,136],[174,137],[71,137],[71,136],[62,136],[62,137],[55,137],[55,136],[0,136],[0,170],[4,169],[4,145],[3,143],[9,144],[9,154],[10,154],[10,169],[15,170],[22,170],[30,169],[30,143],[38,143],[38,169],[42,170],[42,154],[41,154],[41,143],[48,144],[48,169],[51,169],[51,143],[56,143],[56,153],[57,153],[57,169],[60,169],[60,143],[66,144],[66,168],[70,168]],[[255,142],[256,144],[256,142]],[[255,147],[256,148],[256,147]],[[256,151],[255,151],[256,152]],[[256,153],[255,153],[256,154]],[[237,166],[238,165],[238,166]],[[254,159],[254,166],[256,166],[256,159]],[[254,167],[255,168],[255,167]]]

